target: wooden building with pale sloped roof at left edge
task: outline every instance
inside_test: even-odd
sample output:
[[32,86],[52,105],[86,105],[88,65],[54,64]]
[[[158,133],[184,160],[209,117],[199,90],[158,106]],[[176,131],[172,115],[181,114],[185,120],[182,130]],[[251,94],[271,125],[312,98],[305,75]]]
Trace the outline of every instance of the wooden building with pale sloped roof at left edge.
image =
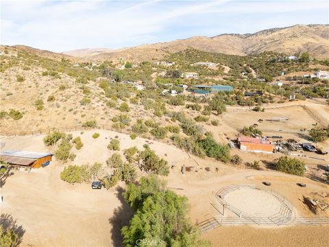
[[1,152],[0,159],[18,167],[40,168],[49,165],[51,156],[50,153],[8,150]]

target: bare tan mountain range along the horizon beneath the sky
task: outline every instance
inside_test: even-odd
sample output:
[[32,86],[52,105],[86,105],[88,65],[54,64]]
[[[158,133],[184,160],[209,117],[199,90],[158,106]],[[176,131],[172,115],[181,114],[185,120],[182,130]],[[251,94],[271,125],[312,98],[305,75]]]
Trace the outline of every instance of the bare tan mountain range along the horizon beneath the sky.
[[313,57],[329,57],[328,25],[295,25],[273,28],[255,34],[222,34],[215,37],[195,36],[171,42],[140,45],[137,47],[104,50],[84,49],[68,51],[64,54],[94,60],[110,60],[123,57],[128,60],[150,60],[183,51],[188,48],[228,55],[259,54],[263,51],[276,51],[285,54],[300,54],[308,51]]

